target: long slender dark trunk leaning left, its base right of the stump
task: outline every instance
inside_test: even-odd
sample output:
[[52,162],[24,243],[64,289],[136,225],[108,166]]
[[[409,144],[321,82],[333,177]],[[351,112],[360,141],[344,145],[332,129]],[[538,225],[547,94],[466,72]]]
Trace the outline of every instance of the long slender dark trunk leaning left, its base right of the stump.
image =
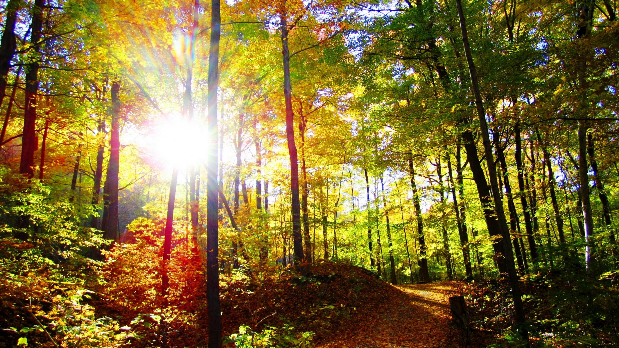
[[516,274],[516,268],[514,267],[514,255],[509,243],[509,229],[505,221],[505,213],[503,211],[503,203],[501,202],[501,195],[496,182],[496,168],[495,161],[492,155],[490,136],[488,134],[488,124],[486,122],[486,112],[483,109],[482,95],[479,91],[477,82],[477,72],[475,71],[475,64],[473,62],[473,56],[469,46],[469,35],[467,33],[466,21],[464,18],[464,11],[462,11],[462,1],[456,0],[458,7],[458,17],[460,19],[460,28],[462,30],[462,43],[464,44],[464,53],[466,56],[467,64],[469,65],[469,73],[471,79],[471,86],[475,96],[475,106],[477,106],[477,117],[480,123],[480,130],[482,133],[483,148],[486,153],[486,163],[488,166],[488,176],[490,176],[490,187],[492,189],[492,195],[495,202],[495,212],[499,223],[500,236],[504,245],[504,260],[508,272],[509,286],[511,287],[511,294],[514,299],[515,321],[519,326],[518,331],[522,336],[522,339],[529,341],[529,333],[526,327],[526,315],[524,307],[522,306],[521,291],[518,284],[518,276]]

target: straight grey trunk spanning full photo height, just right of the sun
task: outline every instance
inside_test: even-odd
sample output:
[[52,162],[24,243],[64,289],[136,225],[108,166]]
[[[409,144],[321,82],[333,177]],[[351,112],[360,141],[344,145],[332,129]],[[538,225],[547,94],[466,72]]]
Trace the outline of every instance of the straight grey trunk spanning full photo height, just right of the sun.
[[210,2],[209,89],[207,94],[207,205],[206,205],[206,292],[209,315],[209,348],[222,346],[222,316],[219,305],[219,219],[217,196],[217,89],[219,87],[219,38],[221,15],[219,0]]

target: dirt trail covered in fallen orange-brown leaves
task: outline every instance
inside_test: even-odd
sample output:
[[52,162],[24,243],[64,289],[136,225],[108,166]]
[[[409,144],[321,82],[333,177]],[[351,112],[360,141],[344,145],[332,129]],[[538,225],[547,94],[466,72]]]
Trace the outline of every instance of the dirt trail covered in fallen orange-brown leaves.
[[385,300],[382,311],[363,320],[360,326],[346,330],[345,336],[321,342],[316,347],[462,346],[461,334],[450,325],[449,296],[456,295],[454,282],[396,287],[400,292]]

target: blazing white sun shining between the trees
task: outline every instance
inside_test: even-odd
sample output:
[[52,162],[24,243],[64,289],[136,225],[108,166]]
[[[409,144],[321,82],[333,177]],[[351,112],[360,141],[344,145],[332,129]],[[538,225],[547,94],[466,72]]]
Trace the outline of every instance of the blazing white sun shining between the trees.
[[200,119],[168,116],[147,137],[152,159],[165,167],[199,166],[206,161],[209,132]]

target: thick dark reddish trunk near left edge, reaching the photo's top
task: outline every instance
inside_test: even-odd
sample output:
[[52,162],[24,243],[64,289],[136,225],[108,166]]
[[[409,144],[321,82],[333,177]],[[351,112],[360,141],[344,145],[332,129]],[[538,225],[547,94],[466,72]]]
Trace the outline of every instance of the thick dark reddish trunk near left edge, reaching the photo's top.
[[[24,176],[33,176],[35,151],[37,150],[37,94],[40,81],[38,79],[38,53],[40,51],[41,28],[43,27],[43,6],[45,0],[35,0],[32,7],[32,22],[30,23],[30,44],[33,56],[37,57],[28,64],[26,69],[26,87],[24,101],[24,131],[22,132],[22,156],[19,172]],[[4,80],[4,79],[1,79]]]

